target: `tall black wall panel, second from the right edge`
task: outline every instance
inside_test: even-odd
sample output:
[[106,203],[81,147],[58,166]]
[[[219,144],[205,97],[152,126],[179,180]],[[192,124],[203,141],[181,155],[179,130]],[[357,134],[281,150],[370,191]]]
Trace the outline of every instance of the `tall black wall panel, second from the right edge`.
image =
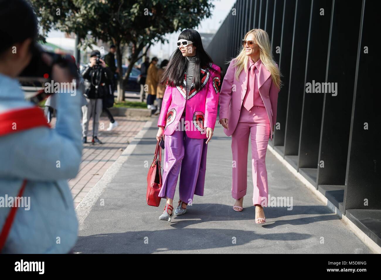
[[[361,2],[334,0],[320,134],[318,185],[344,185]],[[331,90],[329,90],[331,86]]]

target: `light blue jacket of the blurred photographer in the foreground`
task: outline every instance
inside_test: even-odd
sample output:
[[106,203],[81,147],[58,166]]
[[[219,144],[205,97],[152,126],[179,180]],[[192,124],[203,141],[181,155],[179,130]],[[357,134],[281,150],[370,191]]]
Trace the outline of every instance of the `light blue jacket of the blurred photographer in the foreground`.
[[[16,197],[24,178],[23,197],[30,197],[30,209],[17,210],[2,253],[68,253],[77,240],[78,221],[67,180],[76,176],[81,161],[82,93],[57,95],[55,129],[0,136],[0,199]],[[0,74],[0,113],[30,106],[18,81]],[[0,206],[0,228],[9,211]]]

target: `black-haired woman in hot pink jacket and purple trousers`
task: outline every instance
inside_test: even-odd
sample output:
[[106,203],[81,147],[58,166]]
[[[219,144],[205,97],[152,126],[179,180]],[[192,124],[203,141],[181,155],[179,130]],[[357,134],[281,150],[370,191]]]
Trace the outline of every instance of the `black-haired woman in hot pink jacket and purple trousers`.
[[180,200],[174,213],[184,214],[193,196],[203,195],[207,144],[216,123],[220,84],[220,67],[204,50],[199,32],[182,31],[177,46],[160,81],[166,83],[166,90],[156,136],[165,140],[159,193],[166,197],[159,217],[165,221],[171,220],[180,169]]

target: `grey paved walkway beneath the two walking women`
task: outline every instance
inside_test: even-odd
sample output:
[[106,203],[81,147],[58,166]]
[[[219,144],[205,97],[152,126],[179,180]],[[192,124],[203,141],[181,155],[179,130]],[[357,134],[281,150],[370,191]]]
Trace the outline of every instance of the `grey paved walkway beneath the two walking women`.
[[[94,194],[95,204],[80,225],[77,253],[373,253],[330,209],[268,150],[270,197],[292,197],[292,210],[267,207],[266,223],[255,224],[251,157],[243,211],[232,209],[231,138],[216,124],[208,144],[204,196],[171,222],[159,221],[159,207],[146,203],[146,177],[156,144],[157,118],[146,128],[133,152]],[[250,153],[250,149],[249,149]],[[108,171],[107,171],[108,172]],[[107,172],[105,176],[107,175]],[[92,195],[89,193],[88,195]],[[99,196],[99,197],[98,197]],[[174,201],[178,199],[178,191]],[[175,205],[177,206],[177,204]],[[78,209],[77,208],[77,209]],[[85,210],[83,210],[85,209]]]

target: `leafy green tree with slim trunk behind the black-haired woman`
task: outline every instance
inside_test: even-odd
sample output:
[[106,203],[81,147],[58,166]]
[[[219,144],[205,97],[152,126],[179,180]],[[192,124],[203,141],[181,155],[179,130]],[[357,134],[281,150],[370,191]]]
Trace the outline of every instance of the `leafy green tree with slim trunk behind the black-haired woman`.
[[[74,32],[82,45],[97,40],[116,46],[119,73],[122,48],[130,46],[130,63],[118,81],[118,101],[124,100],[123,79],[128,79],[144,46],[166,42],[165,34],[197,27],[210,17],[210,0],[29,0],[45,36],[51,29]],[[139,55],[140,54],[140,55]]]

